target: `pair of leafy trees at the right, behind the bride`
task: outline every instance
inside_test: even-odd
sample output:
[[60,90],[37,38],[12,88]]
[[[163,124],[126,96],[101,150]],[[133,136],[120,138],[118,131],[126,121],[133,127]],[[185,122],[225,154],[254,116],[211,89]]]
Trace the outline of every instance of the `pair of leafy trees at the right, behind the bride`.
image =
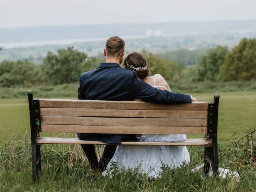
[[217,46],[201,56],[197,65],[199,81],[250,81],[256,80],[256,39],[240,40],[228,50]]

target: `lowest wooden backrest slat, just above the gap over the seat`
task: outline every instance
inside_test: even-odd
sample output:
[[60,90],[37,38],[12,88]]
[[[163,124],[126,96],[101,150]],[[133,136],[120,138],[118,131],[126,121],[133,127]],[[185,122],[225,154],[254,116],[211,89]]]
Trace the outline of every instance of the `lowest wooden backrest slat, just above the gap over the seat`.
[[116,134],[207,134],[205,126],[88,126],[42,124],[42,132]]

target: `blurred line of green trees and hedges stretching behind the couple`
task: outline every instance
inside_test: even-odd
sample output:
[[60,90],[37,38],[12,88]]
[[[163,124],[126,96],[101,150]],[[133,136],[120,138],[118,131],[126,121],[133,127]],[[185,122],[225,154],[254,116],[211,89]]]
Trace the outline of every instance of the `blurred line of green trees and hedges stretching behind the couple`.
[[[156,56],[142,50],[151,74],[161,74],[168,82],[200,81],[255,81],[256,39],[240,40],[228,50],[217,46],[200,56],[196,64],[185,66],[178,62]],[[104,58],[88,56],[73,47],[59,49],[56,54],[48,52],[40,65],[28,60],[0,63],[0,86],[32,86],[67,84],[78,82],[79,75],[97,68]]]

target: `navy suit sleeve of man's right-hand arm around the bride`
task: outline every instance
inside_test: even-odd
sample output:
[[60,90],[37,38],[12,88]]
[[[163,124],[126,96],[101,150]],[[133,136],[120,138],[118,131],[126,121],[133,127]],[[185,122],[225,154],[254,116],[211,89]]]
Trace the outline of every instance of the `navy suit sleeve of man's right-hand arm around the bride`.
[[146,102],[153,103],[173,104],[192,102],[190,95],[154,88],[137,78],[135,74],[132,76],[132,95],[134,98],[140,98]]

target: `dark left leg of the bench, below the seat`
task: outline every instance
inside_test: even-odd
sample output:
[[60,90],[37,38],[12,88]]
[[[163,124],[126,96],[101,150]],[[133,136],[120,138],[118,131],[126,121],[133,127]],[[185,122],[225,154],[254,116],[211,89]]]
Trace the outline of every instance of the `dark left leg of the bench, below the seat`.
[[36,145],[36,143],[32,143],[32,174],[33,174],[34,182],[38,178],[38,174],[40,171],[41,171],[40,145]]

